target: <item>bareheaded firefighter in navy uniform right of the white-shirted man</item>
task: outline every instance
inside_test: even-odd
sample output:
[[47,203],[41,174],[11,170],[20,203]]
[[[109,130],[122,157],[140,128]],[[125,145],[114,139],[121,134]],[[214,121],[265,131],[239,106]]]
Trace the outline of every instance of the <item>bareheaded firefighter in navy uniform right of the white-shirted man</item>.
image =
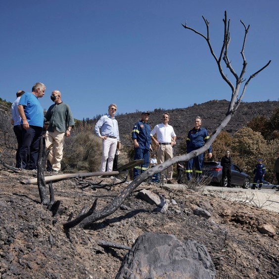
[[[189,131],[186,139],[187,153],[202,147],[209,139],[207,130],[201,127],[201,118],[199,116],[196,117],[194,126],[195,127]],[[212,147],[210,145],[208,149],[209,158],[212,157],[211,151],[212,151]],[[190,180],[192,177],[193,163],[195,163],[195,174],[196,174],[196,178],[198,179],[202,173],[201,168],[203,164],[203,153],[187,161],[186,171],[185,171],[187,180]]]

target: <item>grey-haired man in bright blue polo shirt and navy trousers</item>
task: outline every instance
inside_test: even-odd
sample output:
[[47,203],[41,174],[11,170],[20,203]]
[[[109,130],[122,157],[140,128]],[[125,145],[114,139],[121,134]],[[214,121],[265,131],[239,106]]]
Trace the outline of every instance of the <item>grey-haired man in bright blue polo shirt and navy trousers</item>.
[[[44,111],[38,100],[44,96],[46,86],[36,83],[32,93],[25,93],[18,103],[18,112],[22,125],[22,145],[19,151],[19,164],[21,169],[36,170],[39,152],[39,141],[43,132]],[[30,150],[29,166],[27,154]]]

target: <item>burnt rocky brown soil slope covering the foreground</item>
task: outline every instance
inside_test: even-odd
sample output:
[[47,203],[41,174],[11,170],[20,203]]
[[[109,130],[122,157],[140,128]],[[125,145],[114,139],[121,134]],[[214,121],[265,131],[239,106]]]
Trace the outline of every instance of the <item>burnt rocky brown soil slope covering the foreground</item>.
[[[102,248],[98,240],[132,246],[144,232],[174,234],[180,240],[204,244],[218,279],[279,278],[278,212],[226,200],[208,191],[168,190],[158,185],[139,186],[122,209],[93,224],[63,230],[74,217],[98,198],[97,210],[108,204],[127,184],[93,190],[80,189],[76,179],[53,183],[58,213],[40,204],[38,186],[22,185],[31,172],[0,170],[0,272],[1,278],[114,278],[127,250]],[[100,178],[86,179],[98,182]],[[112,181],[107,179],[106,183]],[[165,213],[139,199],[149,189],[169,200]],[[263,193],[264,194],[264,193]],[[276,195],[274,192],[273,195]],[[279,207],[277,199],[274,206]],[[209,211],[209,219],[193,214],[197,206]],[[269,232],[263,233],[266,227]]]

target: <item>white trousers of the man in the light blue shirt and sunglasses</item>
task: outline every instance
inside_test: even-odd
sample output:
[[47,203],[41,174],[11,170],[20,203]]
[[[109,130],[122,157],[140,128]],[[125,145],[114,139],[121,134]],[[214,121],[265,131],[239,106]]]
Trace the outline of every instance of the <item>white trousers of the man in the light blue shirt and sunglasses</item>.
[[112,171],[114,155],[117,147],[117,139],[102,139],[103,155],[101,159],[100,172],[105,172],[106,160],[107,161],[107,171]]

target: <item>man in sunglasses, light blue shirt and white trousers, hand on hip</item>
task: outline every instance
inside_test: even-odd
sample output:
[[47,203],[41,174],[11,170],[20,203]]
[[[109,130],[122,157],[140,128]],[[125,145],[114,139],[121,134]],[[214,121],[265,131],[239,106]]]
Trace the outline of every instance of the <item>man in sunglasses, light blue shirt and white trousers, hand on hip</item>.
[[[100,172],[105,172],[106,163],[107,171],[112,171],[117,141],[119,141],[118,122],[114,117],[116,109],[116,104],[110,104],[108,106],[108,114],[103,115],[98,120],[94,128],[96,135],[100,139],[102,139],[103,154],[101,159]],[[120,149],[120,142],[118,144]]]

